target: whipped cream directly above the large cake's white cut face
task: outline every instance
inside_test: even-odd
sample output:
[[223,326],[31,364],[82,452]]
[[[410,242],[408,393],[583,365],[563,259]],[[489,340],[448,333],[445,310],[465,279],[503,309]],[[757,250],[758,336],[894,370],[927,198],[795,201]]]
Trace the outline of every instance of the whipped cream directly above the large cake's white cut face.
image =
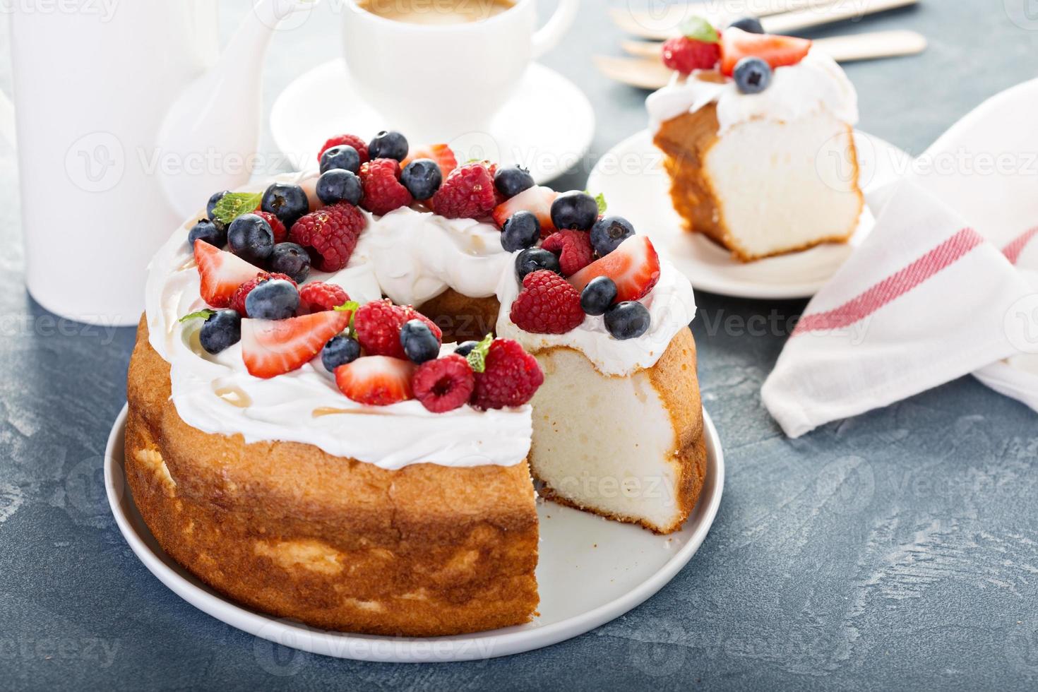
[[639,302],[649,309],[652,320],[649,330],[633,339],[620,340],[605,329],[605,321],[588,315],[583,324],[565,334],[532,334],[512,322],[509,313],[519,295],[520,286],[514,272],[501,277],[497,299],[501,312],[497,317],[497,335],[515,339],[523,349],[536,354],[545,349],[567,347],[582,352],[599,372],[628,376],[652,367],[662,357],[675,335],[685,329],[695,316],[695,296],[684,274],[666,260],[660,262],[659,282]]

